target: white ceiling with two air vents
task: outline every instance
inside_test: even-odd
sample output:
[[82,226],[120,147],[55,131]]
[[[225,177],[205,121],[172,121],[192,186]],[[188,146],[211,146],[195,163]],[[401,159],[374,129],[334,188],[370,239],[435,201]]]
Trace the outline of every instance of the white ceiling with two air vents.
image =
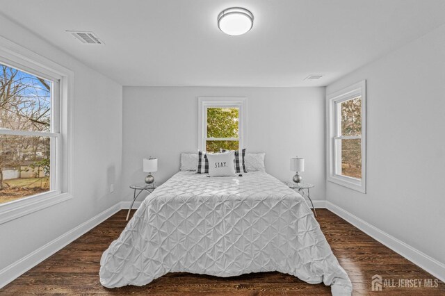
[[[245,35],[216,25],[232,6],[254,14]],[[0,11],[122,85],[323,86],[445,23],[444,0],[0,0]]]

